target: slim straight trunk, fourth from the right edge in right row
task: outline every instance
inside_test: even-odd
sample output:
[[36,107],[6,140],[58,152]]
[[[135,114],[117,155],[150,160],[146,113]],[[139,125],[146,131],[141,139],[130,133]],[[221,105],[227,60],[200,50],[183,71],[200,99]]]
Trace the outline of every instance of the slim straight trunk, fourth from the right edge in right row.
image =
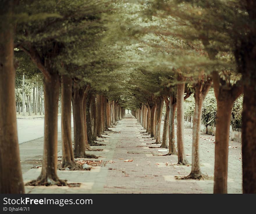
[[[180,78],[178,80],[181,80]],[[184,90],[185,83],[177,84],[177,146],[178,164],[187,165],[184,153]]]

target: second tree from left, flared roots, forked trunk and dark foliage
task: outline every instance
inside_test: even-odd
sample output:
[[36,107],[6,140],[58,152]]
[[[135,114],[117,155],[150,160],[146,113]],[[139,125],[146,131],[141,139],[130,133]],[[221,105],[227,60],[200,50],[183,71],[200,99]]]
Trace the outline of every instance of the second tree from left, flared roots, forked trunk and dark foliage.
[[[36,20],[20,25],[17,30],[17,47],[27,53],[31,60],[44,75],[45,95],[45,138],[44,159],[42,172],[38,179],[31,181],[30,185],[66,185],[56,174],[57,169],[57,116],[58,97],[60,89],[59,64],[57,58],[68,44],[83,32],[81,26],[97,20],[95,11],[99,8],[84,1],[70,4],[70,1],[33,2],[26,7],[20,6],[20,10],[29,14],[39,14],[41,20]],[[103,6],[99,3],[98,6]],[[65,9],[64,9],[65,8]],[[98,10],[97,10],[97,9]],[[74,12],[75,11],[75,12]],[[50,13],[52,12],[52,13]],[[56,14],[59,13],[59,14]],[[40,16],[41,15],[41,16]],[[82,30],[80,30],[82,29]],[[59,64],[58,64],[59,63]]]

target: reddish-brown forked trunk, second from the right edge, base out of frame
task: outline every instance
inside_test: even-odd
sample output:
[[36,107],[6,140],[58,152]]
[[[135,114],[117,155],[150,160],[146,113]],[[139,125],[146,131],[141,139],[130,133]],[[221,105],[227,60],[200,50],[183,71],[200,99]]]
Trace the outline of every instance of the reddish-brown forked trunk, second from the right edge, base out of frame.
[[214,193],[227,193],[227,160],[232,107],[242,93],[242,87],[222,85],[217,71],[213,72],[214,93],[217,100]]

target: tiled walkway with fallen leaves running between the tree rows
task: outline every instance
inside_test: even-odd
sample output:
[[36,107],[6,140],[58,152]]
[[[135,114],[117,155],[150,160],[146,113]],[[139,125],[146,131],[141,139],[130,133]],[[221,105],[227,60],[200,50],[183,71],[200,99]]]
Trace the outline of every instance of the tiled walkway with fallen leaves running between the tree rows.
[[[68,183],[81,183],[80,187],[58,186],[26,186],[26,193],[212,193],[213,180],[191,181],[175,180],[174,176],[186,176],[191,166],[177,166],[177,156],[159,156],[166,152],[149,148],[152,143],[145,130],[136,119],[127,116],[118,122],[115,133],[109,132],[109,138],[104,139],[106,146],[102,152],[89,152],[96,154],[99,159],[109,161],[105,166],[93,167],[91,171],[58,171],[61,179],[67,179]],[[192,133],[191,129],[185,129],[185,151],[191,162]],[[116,133],[118,132],[118,133]],[[105,135],[107,136],[107,135]],[[201,169],[209,176],[214,172],[214,137],[201,135],[200,155]],[[42,158],[43,139],[37,139],[20,145],[22,170],[24,181],[35,179],[41,168],[30,169],[32,165],[40,166]],[[99,142],[101,143],[101,142]],[[234,147],[229,154],[228,192],[241,193],[241,145],[238,142],[230,142]],[[237,147],[237,148],[236,148]],[[34,148],[34,149],[33,149]],[[96,147],[94,147],[96,148]],[[27,155],[29,151],[30,155]],[[61,156],[61,141],[59,141],[59,156]],[[59,158],[61,159],[61,158]],[[125,160],[132,162],[124,162]],[[28,161],[35,160],[35,161]],[[38,163],[36,163],[38,162]]]

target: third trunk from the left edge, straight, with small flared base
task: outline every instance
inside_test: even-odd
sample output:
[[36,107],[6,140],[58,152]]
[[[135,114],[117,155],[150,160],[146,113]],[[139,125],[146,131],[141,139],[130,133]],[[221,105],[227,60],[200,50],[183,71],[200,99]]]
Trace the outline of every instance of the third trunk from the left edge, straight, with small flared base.
[[62,138],[62,168],[70,170],[80,169],[80,165],[74,160],[71,137],[71,100],[72,100],[72,79],[62,76],[61,80],[61,138]]

